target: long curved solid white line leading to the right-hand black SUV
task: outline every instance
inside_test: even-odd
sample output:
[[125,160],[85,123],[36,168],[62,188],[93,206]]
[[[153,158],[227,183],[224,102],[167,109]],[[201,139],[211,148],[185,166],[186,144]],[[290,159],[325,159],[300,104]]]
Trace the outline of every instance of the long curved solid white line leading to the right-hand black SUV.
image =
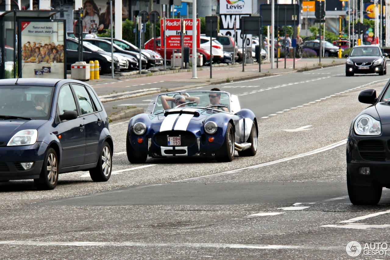
[[196,180],[196,179],[200,179],[200,178],[207,178],[207,177],[218,176],[218,175],[227,175],[227,174],[230,174],[230,173],[238,173],[240,171],[245,171],[245,170],[249,170],[249,169],[257,169],[257,168],[264,167],[264,166],[269,166],[269,165],[272,165],[272,164],[278,164],[280,162],[286,162],[286,161],[289,161],[289,160],[294,160],[296,158],[302,158],[302,157],[306,157],[306,156],[309,156],[309,155],[314,155],[316,153],[321,153],[323,151],[328,151],[328,150],[336,148],[336,147],[338,147],[340,145],[344,145],[346,143],[347,143],[347,139],[344,139],[344,140],[342,140],[340,142],[335,142],[334,144],[330,144],[330,145],[325,146],[323,148],[319,148],[319,149],[316,149],[316,150],[313,150],[313,151],[309,151],[307,153],[301,153],[301,154],[294,155],[294,156],[291,156],[291,157],[282,158],[282,159],[275,160],[275,161],[272,161],[272,162],[266,162],[264,164],[257,164],[257,165],[254,165],[254,166],[244,167],[244,168],[241,168],[241,169],[235,169],[235,170],[232,170],[232,171],[224,171],[223,173],[215,173],[215,174],[204,175],[204,176],[199,176],[199,177],[189,178],[189,179],[184,179],[184,180],[178,180],[178,181],[173,181],[173,182],[186,182],[188,180]]

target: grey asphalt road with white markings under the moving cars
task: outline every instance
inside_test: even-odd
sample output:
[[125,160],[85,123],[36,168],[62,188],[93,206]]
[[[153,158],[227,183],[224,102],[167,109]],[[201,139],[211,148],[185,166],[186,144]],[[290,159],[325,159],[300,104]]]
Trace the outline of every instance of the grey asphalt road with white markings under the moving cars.
[[[257,115],[255,157],[130,164],[124,121],[110,125],[108,182],[75,172],[60,175],[53,191],[36,191],[32,180],[0,183],[0,258],[351,259],[351,240],[384,247],[390,191],[376,206],[349,202],[345,143],[352,119],[367,107],[358,93],[379,92],[388,77],[342,72],[219,85]],[[146,105],[150,98],[128,102]],[[380,253],[359,259],[389,257]]]

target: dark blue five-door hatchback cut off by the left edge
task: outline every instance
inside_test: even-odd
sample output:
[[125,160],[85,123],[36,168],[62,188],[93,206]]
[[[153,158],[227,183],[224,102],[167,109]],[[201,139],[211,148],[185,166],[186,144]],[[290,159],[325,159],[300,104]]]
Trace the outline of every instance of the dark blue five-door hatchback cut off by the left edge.
[[59,173],[111,176],[108,117],[92,87],[78,80],[0,80],[0,181],[34,179],[54,189]]

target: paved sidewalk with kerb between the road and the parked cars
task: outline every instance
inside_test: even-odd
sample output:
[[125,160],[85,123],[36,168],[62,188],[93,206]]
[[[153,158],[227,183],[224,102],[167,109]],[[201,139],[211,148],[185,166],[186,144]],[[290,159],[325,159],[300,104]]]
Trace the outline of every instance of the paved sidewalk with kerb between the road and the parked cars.
[[[329,66],[338,66],[345,64],[346,59],[338,58],[321,58],[319,59],[295,59],[295,69],[293,59],[286,60],[286,68],[284,68],[284,58],[278,61],[278,68],[275,60],[275,68],[271,69],[271,64],[266,62],[261,64],[261,72],[259,72],[259,64],[246,64],[243,71],[242,64],[226,66],[225,64],[217,64],[212,67],[212,78],[210,78],[210,67],[203,66],[197,70],[197,78],[192,77],[192,69],[174,69],[170,71],[159,71],[142,75],[126,76],[122,73],[121,76],[115,75],[115,78],[103,76],[99,80],[87,81],[96,93],[111,121],[131,118],[136,114],[142,113],[143,109],[128,109],[117,111],[110,105],[110,101],[143,96],[147,94],[158,94],[160,92],[170,92],[179,89],[188,89],[191,87],[200,87],[206,85],[222,84],[226,82],[236,82],[240,80],[248,80],[260,78],[270,75],[278,75],[284,73],[296,73],[313,69],[320,69]],[[168,67],[167,67],[168,68]]]

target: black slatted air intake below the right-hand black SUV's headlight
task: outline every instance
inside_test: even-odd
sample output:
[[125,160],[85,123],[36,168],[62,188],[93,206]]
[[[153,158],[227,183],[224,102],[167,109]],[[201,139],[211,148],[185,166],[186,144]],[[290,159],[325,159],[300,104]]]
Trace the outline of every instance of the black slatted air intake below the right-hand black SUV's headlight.
[[385,146],[380,140],[365,140],[358,143],[360,156],[364,160],[384,162],[386,160]]

